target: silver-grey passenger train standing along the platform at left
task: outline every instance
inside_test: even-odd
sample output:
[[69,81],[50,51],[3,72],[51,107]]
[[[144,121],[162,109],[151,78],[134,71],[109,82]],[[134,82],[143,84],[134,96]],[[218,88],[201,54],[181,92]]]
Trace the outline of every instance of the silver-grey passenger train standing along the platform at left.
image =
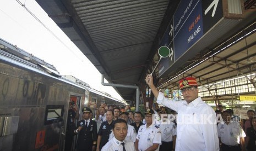
[[0,38],[0,150],[64,150],[70,101],[125,104]]

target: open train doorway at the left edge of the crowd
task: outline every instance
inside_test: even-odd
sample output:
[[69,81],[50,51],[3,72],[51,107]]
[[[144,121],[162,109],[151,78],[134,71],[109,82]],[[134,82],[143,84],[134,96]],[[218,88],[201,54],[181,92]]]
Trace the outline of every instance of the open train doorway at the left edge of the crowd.
[[[75,150],[76,144],[76,135],[74,135],[74,130],[77,127],[80,111],[80,96],[70,95],[69,97],[69,107],[68,107],[68,117],[66,125],[66,134],[65,134],[65,150]],[[75,111],[77,110],[77,112]]]

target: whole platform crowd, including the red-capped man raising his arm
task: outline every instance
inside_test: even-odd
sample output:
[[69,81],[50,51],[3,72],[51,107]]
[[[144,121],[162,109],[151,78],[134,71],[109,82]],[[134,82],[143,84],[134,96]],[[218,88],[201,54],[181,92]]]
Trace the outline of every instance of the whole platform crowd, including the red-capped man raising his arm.
[[[73,133],[69,131],[70,136],[78,135],[76,150],[256,150],[253,110],[248,111],[249,119],[244,121],[234,116],[232,109],[224,111],[221,105],[214,111],[198,96],[197,81],[192,77],[179,81],[183,101],[164,97],[151,75],[145,81],[156,102],[177,114],[169,116],[165,108],[132,112],[129,106],[113,108],[102,103],[92,119],[91,109],[84,107],[83,119]],[[77,113],[72,112],[69,120],[73,123],[75,117]]]

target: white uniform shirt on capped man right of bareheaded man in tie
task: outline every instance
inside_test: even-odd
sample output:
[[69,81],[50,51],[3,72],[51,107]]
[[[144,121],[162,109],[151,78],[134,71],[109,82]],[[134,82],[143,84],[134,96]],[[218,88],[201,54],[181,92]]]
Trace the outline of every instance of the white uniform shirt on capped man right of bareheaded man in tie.
[[[146,150],[154,143],[159,145],[162,144],[161,131],[160,129],[157,129],[154,124],[151,124],[148,128],[146,128],[146,124],[141,125],[136,138],[139,140],[139,151]],[[159,151],[159,147],[156,149],[156,151]]]

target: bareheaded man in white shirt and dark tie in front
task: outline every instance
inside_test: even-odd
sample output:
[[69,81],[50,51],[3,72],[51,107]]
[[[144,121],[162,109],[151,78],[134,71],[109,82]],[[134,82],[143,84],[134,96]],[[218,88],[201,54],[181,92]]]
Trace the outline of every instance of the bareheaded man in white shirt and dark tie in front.
[[117,119],[113,123],[112,130],[114,137],[108,141],[101,151],[133,151],[135,150],[134,143],[132,141],[125,140],[128,128],[127,122],[123,119]]

